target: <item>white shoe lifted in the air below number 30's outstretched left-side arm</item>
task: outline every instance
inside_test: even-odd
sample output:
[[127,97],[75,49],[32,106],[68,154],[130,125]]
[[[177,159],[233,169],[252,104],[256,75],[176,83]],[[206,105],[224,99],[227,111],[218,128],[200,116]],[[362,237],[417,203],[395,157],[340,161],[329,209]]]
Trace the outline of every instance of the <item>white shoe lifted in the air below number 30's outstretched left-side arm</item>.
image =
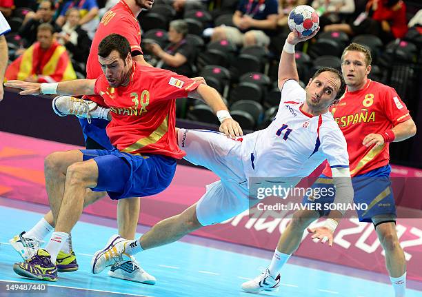
[[97,107],[97,103],[72,96],[57,96],[52,101],[52,109],[58,116],[74,114],[80,119],[88,119],[91,123],[90,111]]

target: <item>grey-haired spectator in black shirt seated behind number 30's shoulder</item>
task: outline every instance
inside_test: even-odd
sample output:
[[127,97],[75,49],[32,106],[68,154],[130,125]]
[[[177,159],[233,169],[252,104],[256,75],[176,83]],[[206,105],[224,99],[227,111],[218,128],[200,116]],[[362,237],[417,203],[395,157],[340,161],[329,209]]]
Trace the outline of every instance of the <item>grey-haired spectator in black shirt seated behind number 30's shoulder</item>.
[[157,43],[147,43],[146,49],[161,59],[156,67],[171,70],[184,76],[192,76],[195,48],[186,42],[188,23],[178,19],[170,22],[168,40],[170,45],[163,50]]

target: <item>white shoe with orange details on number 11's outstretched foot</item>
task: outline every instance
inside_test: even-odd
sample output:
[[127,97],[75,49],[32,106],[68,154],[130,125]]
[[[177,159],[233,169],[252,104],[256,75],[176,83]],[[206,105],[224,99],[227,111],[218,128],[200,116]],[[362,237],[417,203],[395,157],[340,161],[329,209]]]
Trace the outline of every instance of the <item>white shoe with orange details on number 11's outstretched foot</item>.
[[92,257],[92,273],[99,274],[106,269],[106,267],[122,263],[125,243],[128,243],[128,240],[125,238],[120,237],[119,235],[111,236],[106,247],[95,252]]

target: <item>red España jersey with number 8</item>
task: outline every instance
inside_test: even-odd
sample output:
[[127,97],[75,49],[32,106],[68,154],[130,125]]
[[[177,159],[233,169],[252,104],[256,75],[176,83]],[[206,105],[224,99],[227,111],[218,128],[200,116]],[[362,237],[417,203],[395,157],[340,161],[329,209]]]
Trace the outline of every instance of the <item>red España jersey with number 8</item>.
[[[346,90],[339,104],[332,107],[334,119],[348,143],[350,174],[356,176],[388,164],[388,143],[365,147],[363,139],[370,133],[382,134],[410,119],[406,105],[394,88],[368,79],[365,87],[355,92]],[[327,164],[323,174],[331,176]]]

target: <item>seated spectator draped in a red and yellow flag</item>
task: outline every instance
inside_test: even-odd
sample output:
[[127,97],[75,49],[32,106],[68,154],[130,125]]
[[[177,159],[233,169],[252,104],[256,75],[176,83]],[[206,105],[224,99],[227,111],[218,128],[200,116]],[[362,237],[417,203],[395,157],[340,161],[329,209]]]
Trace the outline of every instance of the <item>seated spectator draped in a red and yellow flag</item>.
[[76,79],[68,52],[54,40],[53,33],[54,28],[49,23],[39,25],[37,42],[10,63],[6,69],[6,79],[38,83]]

